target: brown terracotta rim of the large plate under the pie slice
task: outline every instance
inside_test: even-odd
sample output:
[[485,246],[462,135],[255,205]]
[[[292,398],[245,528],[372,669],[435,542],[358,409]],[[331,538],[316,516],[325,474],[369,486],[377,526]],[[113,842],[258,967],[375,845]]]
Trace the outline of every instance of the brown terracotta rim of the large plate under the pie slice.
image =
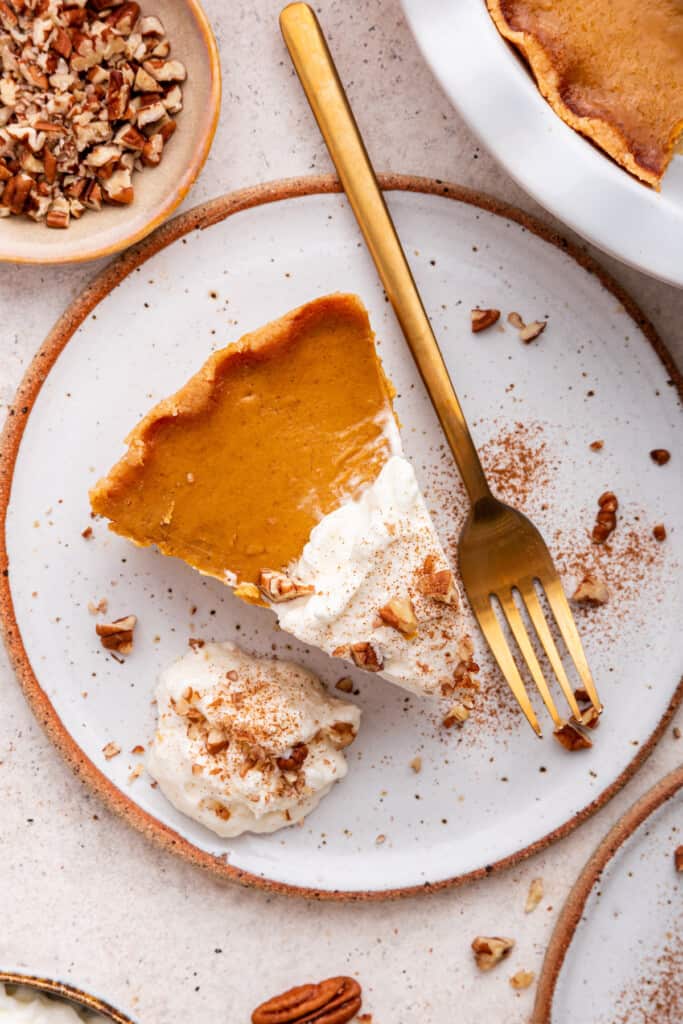
[[[683,376],[677,370],[670,352],[657,335],[654,327],[631,296],[585,251],[567,242],[542,221],[484,193],[465,188],[462,185],[440,179],[423,178],[415,175],[381,174],[379,175],[379,179],[382,188],[388,191],[398,190],[420,193],[427,196],[441,196],[456,202],[467,203],[479,209],[486,210],[498,216],[515,221],[533,234],[561,249],[589,273],[595,274],[603,287],[624,306],[639,331],[644,334],[659,356],[671,377],[673,385],[683,398]],[[675,711],[683,700],[683,678],[679,681],[669,707],[658,725],[647,741],[639,748],[638,753],[621,775],[603,790],[595,800],[578,811],[564,824],[548,833],[529,846],[523,847],[521,850],[517,850],[515,853],[484,867],[479,867],[454,878],[443,879],[439,882],[425,883],[420,886],[348,892],[288,885],[287,883],[275,882],[242,870],[228,863],[224,856],[215,856],[199,849],[174,829],[163,824],[153,815],[147,814],[138,807],[133,800],[114,785],[84,754],[62,725],[49,698],[42,690],[24,647],[9,586],[6,542],[6,518],[14,466],[31,410],[40,393],[43,382],[59,353],[97,303],[120,284],[124,278],[135,270],[136,267],[189,231],[210,227],[212,224],[218,223],[226,217],[253,207],[304,196],[340,193],[341,190],[341,185],[333,175],[315,175],[266,182],[228,193],[208,203],[203,203],[163,224],[143,242],[129,249],[106,266],[95,275],[85,290],[62,313],[30,364],[14,397],[13,406],[10,407],[2,435],[0,435],[0,629],[27,700],[52,742],[76,774],[94,790],[113,811],[121,815],[143,835],[156,841],[164,849],[179,854],[190,863],[207,868],[221,878],[240,882],[246,886],[264,889],[270,893],[304,896],[308,899],[369,901],[416,896],[419,893],[433,893],[442,889],[460,886],[467,882],[504,870],[513,864],[518,864],[520,861],[567,836],[583,821],[603,807],[628,782],[647,759]]]

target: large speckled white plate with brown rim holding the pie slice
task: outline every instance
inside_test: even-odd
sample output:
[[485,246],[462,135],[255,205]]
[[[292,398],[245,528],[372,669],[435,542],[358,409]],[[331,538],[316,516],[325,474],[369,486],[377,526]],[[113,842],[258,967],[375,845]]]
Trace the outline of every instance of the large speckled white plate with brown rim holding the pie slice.
[[[129,752],[154,730],[157,676],[189,637],[274,650],[330,683],[345,674],[275,632],[268,612],[89,517],[88,487],[122,453],[128,429],[212,349],[314,296],[357,292],[398,390],[407,452],[455,551],[466,505],[457,472],[330,178],[216,200],[95,279],[29,371],[0,478],[5,634],[29,699],[68,759],[168,848],[229,878],[317,896],[435,888],[565,835],[636,770],[680,698],[680,381],[665,348],[598,267],[521,213],[453,185],[384,184],[495,486],[538,522],[568,588],[596,560],[612,590],[610,604],[580,613],[607,709],[591,752],[571,757],[550,736],[536,739],[482,651],[482,691],[460,731],[441,727],[438,705],[356,675],[364,721],[348,777],[303,827],[221,841],[176,813],[144,775],[130,780],[139,759]],[[505,316],[475,337],[477,304],[549,325],[529,346]],[[600,452],[589,447],[596,439]],[[651,461],[654,447],[672,451],[669,465]],[[589,534],[608,487],[620,524],[610,549],[598,550]],[[651,536],[658,522],[670,527],[664,544]],[[94,536],[85,540],[88,525]],[[88,603],[101,598],[111,616],[139,617],[125,664],[96,640]],[[111,740],[123,754],[106,761]]]

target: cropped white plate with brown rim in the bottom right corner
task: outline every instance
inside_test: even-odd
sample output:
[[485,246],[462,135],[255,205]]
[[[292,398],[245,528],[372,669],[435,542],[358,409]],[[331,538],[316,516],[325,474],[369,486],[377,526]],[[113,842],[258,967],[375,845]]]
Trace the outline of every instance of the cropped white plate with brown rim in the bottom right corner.
[[555,926],[532,1024],[683,1020],[683,874],[674,861],[682,787],[683,767],[645,794],[586,864]]

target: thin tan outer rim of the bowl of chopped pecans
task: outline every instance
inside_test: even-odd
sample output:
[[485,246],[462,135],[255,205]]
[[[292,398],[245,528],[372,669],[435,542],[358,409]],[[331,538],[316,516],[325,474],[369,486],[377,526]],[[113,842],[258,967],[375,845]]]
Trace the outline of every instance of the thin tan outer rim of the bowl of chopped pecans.
[[[116,253],[121,252],[122,249],[127,249],[128,246],[132,246],[136,242],[140,242],[142,239],[146,238],[147,234],[154,231],[156,227],[159,227],[159,225],[162,224],[167,217],[170,217],[173,211],[180,206],[183,199],[200,176],[209,157],[209,153],[211,152],[211,146],[218,127],[222,94],[220,56],[218,53],[216,37],[214,36],[213,29],[211,28],[211,23],[209,22],[208,15],[202,7],[200,0],[183,0],[183,3],[187,7],[190,16],[197,23],[197,27],[202,35],[202,39],[204,40],[204,44],[207,49],[209,72],[211,75],[211,89],[209,92],[211,118],[206,131],[198,140],[191,160],[185,167],[175,188],[157,209],[157,213],[144,224],[142,224],[141,227],[138,227],[133,231],[127,231],[124,227],[122,227],[122,236],[109,245],[99,246],[95,249],[88,249],[86,246],[80,252],[66,256],[60,256],[57,252],[50,255],[37,252],[36,255],[17,256],[11,252],[11,249],[5,249],[3,247],[0,248],[0,263],[55,266],[58,264],[86,263],[90,260],[99,259],[103,256],[113,256]],[[126,209],[127,208],[124,207],[121,211],[124,218]],[[125,223],[125,220],[122,219],[122,224],[123,223]]]

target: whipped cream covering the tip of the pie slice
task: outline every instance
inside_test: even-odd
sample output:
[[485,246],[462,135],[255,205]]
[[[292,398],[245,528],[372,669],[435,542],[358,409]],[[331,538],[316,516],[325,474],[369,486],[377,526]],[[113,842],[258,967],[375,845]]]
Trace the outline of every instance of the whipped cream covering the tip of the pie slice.
[[[447,694],[458,666],[471,656],[457,585],[413,466],[400,455],[389,458],[356,501],[324,516],[287,574],[313,593],[273,604],[283,629],[361,668],[358,645],[370,644],[373,671],[399,686]],[[452,581],[449,601],[431,586],[444,574]],[[381,614],[407,599],[417,621],[410,634]]]

